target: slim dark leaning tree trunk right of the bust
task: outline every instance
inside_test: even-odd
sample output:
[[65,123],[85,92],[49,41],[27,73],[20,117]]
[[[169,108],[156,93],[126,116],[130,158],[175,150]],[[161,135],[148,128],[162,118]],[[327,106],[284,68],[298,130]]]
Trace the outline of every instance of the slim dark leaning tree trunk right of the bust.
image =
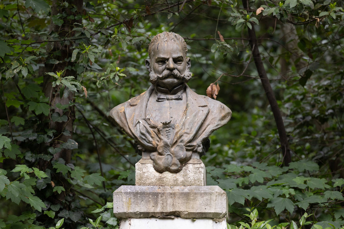
[[[243,6],[244,6],[244,9],[249,9],[248,0],[243,0]],[[259,78],[261,80],[264,91],[270,103],[273,117],[275,118],[278,134],[280,137],[281,149],[283,153],[283,164],[288,166],[289,163],[291,162],[291,155],[290,155],[290,150],[289,150],[289,143],[288,143],[288,138],[286,134],[286,129],[284,128],[282,115],[279,110],[275,94],[271,88],[270,81],[266,75],[266,71],[263,65],[263,61],[261,60],[261,57],[260,57],[254,24],[251,23],[251,25],[252,25],[252,29],[248,28],[248,38],[249,38],[250,46],[252,48],[252,56],[255,61]]]

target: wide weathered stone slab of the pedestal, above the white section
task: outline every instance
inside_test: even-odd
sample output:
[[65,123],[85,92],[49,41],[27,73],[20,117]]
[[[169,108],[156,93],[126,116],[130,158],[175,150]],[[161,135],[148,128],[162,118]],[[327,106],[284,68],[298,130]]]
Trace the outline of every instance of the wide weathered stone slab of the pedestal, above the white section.
[[226,192],[219,186],[122,185],[114,192],[114,214],[122,219],[179,216],[222,221],[227,206]]

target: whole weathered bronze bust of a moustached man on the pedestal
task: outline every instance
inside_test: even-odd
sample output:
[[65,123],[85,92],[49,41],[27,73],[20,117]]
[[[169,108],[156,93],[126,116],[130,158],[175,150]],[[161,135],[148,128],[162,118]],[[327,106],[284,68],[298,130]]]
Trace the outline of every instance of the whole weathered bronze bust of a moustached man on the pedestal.
[[142,158],[152,159],[162,173],[177,173],[191,158],[207,151],[208,137],[225,125],[232,112],[219,101],[193,92],[184,39],[163,32],[149,44],[146,68],[152,85],[110,111],[109,117],[138,147]]

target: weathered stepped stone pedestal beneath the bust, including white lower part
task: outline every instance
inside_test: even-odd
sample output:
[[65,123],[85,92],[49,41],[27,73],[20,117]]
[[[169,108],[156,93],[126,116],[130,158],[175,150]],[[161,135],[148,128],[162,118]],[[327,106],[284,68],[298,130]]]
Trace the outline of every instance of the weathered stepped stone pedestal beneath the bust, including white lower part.
[[179,173],[158,173],[148,157],[135,168],[136,185],[122,185],[114,192],[119,229],[227,229],[226,192],[206,186],[199,158],[192,158]]

